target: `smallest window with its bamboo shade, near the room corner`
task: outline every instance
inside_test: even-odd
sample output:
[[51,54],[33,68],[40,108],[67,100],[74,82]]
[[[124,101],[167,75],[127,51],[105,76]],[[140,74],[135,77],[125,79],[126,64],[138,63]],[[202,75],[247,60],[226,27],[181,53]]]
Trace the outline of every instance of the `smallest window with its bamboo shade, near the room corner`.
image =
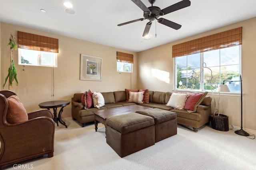
[[118,72],[132,72],[133,55],[116,52],[116,68]]

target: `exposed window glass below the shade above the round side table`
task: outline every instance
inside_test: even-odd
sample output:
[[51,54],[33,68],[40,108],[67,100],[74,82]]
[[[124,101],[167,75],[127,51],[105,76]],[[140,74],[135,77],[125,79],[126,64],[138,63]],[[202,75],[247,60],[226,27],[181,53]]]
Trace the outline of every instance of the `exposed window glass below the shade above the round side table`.
[[57,67],[57,53],[18,49],[18,59],[21,65]]

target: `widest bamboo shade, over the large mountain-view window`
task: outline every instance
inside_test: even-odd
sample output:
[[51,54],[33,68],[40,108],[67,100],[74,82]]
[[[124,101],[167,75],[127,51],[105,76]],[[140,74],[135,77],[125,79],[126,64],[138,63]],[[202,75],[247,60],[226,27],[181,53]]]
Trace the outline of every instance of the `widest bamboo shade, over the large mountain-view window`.
[[242,44],[242,27],[172,46],[172,57],[181,57]]

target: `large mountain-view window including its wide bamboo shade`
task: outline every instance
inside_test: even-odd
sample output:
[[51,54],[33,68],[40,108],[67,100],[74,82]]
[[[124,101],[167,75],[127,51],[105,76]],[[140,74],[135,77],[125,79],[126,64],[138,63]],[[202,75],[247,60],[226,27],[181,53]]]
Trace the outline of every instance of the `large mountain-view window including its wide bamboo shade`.
[[223,80],[240,92],[242,27],[172,46],[175,89],[216,91]]

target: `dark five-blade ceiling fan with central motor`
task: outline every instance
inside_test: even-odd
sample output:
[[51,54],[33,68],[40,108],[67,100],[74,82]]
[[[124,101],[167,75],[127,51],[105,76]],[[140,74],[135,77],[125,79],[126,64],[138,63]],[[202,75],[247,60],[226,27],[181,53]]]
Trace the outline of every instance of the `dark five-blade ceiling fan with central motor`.
[[143,13],[144,18],[120,23],[117,26],[122,26],[122,25],[126,25],[128,23],[133,23],[133,22],[137,22],[137,21],[149,20],[149,22],[146,24],[146,27],[144,29],[144,32],[142,35],[143,37],[148,35],[152,21],[154,21],[154,20],[157,20],[159,23],[162,23],[162,24],[164,24],[168,27],[171,27],[173,29],[176,29],[176,30],[180,29],[180,27],[181,27],[180,24],[166,20],[164,18],[158,18],[158,17],[190,6],[189,0],[182,0],[176,4],[168,6],[167,8],[164,8],[161,10],[159,7],[153,6],[153,4],[154,4],[154,2],[156,2],[156,0],[148,0],[148,2],[151,4],[151,6],[148,8],[140,0],[132,0],[132,2],[134,2],[134,4],[136,4],[138,7],[140,7],[140,9],[142,9],[144,11],[144,13]]

